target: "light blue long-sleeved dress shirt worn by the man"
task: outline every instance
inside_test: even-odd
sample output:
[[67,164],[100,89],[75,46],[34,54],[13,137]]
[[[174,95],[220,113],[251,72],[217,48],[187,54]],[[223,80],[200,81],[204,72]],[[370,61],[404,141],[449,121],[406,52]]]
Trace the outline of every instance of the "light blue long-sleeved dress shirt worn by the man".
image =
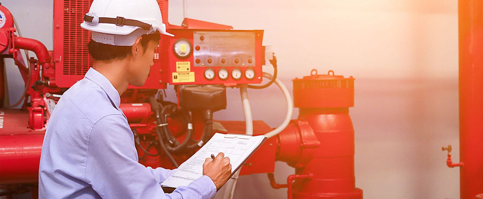
[[41,199],[211,199],[206,175],[165,194],[160,184],[174,170],[138,162],[134,136],[119,109],[117,90],[89,69],[58,101],[43,140]]

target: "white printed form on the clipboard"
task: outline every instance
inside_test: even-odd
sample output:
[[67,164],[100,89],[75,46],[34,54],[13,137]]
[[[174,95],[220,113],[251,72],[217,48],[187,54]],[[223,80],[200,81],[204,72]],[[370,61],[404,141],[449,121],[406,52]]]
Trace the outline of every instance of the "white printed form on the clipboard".
[[181,164],[161,185],[168,187],[186,186],[203,175],[203,163],[213,154],[222,152],[230,158],[231,173],[241,168],[249,156],[265,141],[263,135],[215,133],[206,144],[193,156]]

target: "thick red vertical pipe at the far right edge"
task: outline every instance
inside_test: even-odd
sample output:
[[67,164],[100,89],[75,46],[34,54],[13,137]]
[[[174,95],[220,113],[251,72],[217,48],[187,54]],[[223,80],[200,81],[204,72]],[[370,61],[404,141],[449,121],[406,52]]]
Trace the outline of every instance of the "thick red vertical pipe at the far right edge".
[[458,0],[461,199],[483,193],[483,2]]

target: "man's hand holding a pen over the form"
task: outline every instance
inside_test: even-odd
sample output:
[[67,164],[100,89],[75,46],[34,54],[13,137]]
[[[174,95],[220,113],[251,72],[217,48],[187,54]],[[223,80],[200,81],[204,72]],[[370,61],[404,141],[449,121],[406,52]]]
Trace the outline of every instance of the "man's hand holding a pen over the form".
[[214,160],[208,157],[203,163],[203,175],[207,175],[213,180],[216,189],[225,185],[231,175],[230,158],[224,156],[225,154],[219,153]]

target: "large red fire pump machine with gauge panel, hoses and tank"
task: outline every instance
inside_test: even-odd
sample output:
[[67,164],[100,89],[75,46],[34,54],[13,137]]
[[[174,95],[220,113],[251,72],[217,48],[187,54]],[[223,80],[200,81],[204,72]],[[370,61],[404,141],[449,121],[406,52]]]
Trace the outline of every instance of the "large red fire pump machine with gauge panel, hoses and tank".
[[[168,21],[168,1],[157,1]],[[90,33],[79,27],[91,2],[54,1],[53,51],[39,41],[17,36],[12,14],[0,5],[0,188],[7,190],[2,195],[30,191],[32,198],[37,197],[40,153],[50,113],[62,93],[92,65],[84,47]],[[348,114],[354,105],[354,78],[332,71],[319,75],[314,70],[310,76],[295,79],[294,104],[300,115],[288,123],[292,100],[276,79],[276,58],[262,46],[263,30],[233,30],[188,18],[182,26],[169,25],[168,29],[176,36],[161,37],[145,85],[129,86],[121,96],[120,108],[132,129],[140,163],[173,169],[213,132],[245,133],[251,118],[249,122],[213,120],[213,113],[227,106],[226,88],[240,88],[243,106],[249,109],[246,88],[275,83],[285,94],[287,118],[276,129],[253,121],[254,135],[270,134],[271,138],[242,166],[240,175],[269,173],[274,188],[288,187],[288,198],[362,199],[362,190],[355,188],[354,129]],[[38,59],[24,63],[21,49],[33,51]],[[5,100],[4,58],[14,59],[26,85],[22,99],[12,106]],[[273,76],[262,72],[266,61],[274,67]],[[262,83],[262,77],[270,82],[253,85]],[[167,84],[174,85],[176,103],[164,100],[162,89]],[[10,108],[18,104],[23,104],[21,109]],[[296,168],[286,185],[273,180],[276,160]]]

